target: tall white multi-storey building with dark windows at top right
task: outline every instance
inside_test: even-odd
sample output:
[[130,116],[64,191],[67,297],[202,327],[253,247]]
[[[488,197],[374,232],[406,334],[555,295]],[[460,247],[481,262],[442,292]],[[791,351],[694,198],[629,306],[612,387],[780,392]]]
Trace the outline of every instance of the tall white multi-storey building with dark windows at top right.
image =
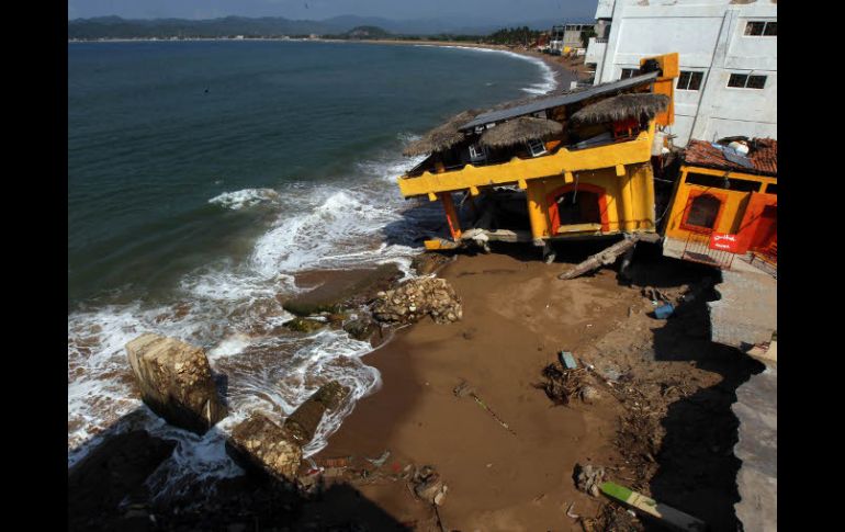
[[777,138],[776,0],[598,0],[585,63],[595,83],[677,52],[676,146],[689,138]]

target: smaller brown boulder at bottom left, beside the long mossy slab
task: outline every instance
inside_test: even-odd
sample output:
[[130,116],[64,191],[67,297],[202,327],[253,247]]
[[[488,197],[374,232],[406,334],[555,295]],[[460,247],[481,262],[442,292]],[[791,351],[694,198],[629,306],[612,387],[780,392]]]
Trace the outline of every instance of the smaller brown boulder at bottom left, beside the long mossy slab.
[[286,482],[293,482],[302,462],[300,442],[260,412],[235,427],[226,440],[226,452],[244,469]]

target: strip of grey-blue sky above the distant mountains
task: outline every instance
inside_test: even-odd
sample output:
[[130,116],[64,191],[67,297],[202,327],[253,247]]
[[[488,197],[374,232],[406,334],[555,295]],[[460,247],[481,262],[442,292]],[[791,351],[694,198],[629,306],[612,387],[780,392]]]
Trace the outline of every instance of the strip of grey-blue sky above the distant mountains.
[[597,0],[68,0],[68,19],[216,19],[284,16],[324,20],[353,14],[393,20],[455,16],[466,22],[592,19]]

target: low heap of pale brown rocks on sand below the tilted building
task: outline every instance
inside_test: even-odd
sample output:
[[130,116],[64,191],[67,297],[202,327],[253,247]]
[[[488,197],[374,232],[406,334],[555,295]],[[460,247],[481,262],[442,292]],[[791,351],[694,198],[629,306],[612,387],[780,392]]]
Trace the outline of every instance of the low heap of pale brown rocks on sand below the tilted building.
[[375,319],[392,324],[413,324],[426,316],[449,324],[463,316],[460,297],[444,279],[437,278],[413,279],[380,293],[372,310]]

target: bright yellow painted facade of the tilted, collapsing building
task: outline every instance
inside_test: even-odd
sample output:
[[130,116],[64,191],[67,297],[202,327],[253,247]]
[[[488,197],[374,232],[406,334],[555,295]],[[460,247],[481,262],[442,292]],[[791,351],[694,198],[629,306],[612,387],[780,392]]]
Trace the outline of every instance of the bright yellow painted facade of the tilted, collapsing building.
[[[674,78],[677,77],[677,54],[654,58],[661,76],[651,88],[667,93],[672,99]],[[451,236],[459,240],[462,235],[458,216],[451,205],[451,193],[465,192],[477,196],[494,186],[517,186],[526,193],[527,214],[530,220],[530,239],[542,245],[550,239],[593,237],[619,233],[656,233],[654,208],[654,180],[651,167],[652,148],[657,124],[671,124],[672,105],[647,122],[630,138],[618,138],[604,145],[556,150],[538,157],[512,157],[497,163],[475,166],[466,163],[460,169],[438,171],[429,169],[418,176],[397,179],[405,197],[427,196],[441,200],[449,222]],[[643,123],[644,125],[644,123]],[[589,204],[577,207],[576,197]],[[565,200],[565,202],[564,202]],[[563,214],[559,212],[559,205]],[[450,208],[451,207],[451,208]],[[567,208],[588,210],[589,216],[574,219]],[[586,222],[586,223],[585,223]],[[525,233],[525,231],[523,231]],[[519,239],[527,239],[520,236]],[[443,240],[429,240],[426,247],[451,247]]]

